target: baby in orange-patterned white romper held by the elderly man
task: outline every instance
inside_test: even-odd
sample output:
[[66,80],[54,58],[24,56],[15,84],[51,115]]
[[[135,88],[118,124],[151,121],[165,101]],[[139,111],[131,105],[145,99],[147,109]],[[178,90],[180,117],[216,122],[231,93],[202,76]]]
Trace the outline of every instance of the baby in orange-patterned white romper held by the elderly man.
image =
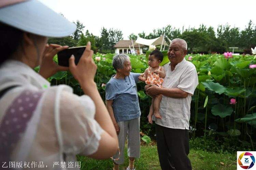
[[[144,77],[139,77],[140,81],[144,81],[147,85],[155,84],[162,87],[163,78],[165,78],[165,69],[159,64],[163,61],[163,54],[159,50],[154,50],[148,56],[148,68],[144,72]],[[162,95],[152,98],[148,122],[151,124],[152,116],[162,119],[159,113],[159,105],[162,100]]]

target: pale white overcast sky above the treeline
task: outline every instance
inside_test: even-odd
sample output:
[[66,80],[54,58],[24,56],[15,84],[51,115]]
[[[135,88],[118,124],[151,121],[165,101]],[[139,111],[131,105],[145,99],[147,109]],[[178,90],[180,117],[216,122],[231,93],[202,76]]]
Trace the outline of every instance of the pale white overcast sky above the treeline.
[[244,29],[256,24],[256,0],[40,0],[68,20],[80,20],[85,30],[100,35],[102,27],[146,34],[170,24],[198,28],[201,23],[215,29],[229,23]]

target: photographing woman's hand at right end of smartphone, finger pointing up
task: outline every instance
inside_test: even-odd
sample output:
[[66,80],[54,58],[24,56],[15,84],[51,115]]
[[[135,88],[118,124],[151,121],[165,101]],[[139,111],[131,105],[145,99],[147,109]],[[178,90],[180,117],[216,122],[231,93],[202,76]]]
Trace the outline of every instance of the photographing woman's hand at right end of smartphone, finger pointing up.
[[[69,70],[73,74],[74,78],[80,83],[81,87],[96,86],[94,77],[96,74],[97,66],[93,61],[93,50],[91,50],[90,41],[86,45],[83,55],[81,56],[79,63],[75,65],[75,57],[72,55],[69,59]],[[83,89],[85,90],[85,89]]]

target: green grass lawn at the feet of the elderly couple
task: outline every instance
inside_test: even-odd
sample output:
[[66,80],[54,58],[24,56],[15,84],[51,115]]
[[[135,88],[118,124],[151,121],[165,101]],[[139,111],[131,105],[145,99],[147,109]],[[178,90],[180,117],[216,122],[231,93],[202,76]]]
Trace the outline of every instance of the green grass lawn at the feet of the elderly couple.
[[[127,148],[127,146],[126,146]],[[236,169],[236,154],[212,153],[202,150],[190,149],[189,158],[193,170],[203,169]],[[95,160],[85,156],[77,156],[77,161],[81,161],[82,170],[112,170],[113,162],[108,160]],[[127,149],[125,150],[125,163],[120,166],[120,170],[126,169],[129,164]],[[137,170],[158,170],[160,168],[157,148],[154,146],[141,146],[141,157],[136,159],[135,168]]]

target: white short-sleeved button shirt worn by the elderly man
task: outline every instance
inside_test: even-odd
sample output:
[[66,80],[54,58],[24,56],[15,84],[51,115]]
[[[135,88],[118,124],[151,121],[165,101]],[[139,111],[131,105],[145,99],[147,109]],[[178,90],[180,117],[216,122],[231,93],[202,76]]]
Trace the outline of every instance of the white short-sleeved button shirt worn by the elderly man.
[[172,129],[188,129],[190,119],[191,96],[198,85],[197,71],[194,64],[183,59],[182,62],[171,70],[170,63],[163,66],[166,72],[163,80],[163,88],[179,88],[188,92],[187,98],[174,99],[163,96],[159,112],[162,119],[156,119],[155,123]]

